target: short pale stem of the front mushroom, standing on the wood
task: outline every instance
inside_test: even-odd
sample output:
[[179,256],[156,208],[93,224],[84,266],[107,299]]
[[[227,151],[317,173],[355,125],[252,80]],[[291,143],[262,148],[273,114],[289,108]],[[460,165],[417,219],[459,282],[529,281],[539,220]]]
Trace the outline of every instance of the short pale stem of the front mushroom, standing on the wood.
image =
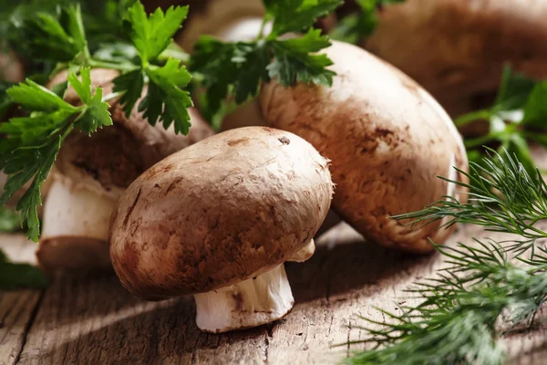
[[263,325],[283,318],[294,304],[284,265],[230,287],[194,295],[196,323],[213,333]]

